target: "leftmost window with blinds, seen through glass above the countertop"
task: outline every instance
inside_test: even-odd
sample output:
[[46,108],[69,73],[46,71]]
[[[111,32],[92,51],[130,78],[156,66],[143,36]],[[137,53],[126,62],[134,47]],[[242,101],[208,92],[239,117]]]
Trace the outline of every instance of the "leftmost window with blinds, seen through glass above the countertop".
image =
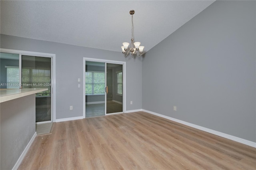
[[5,66],[7,68],[7,89],[20,88],[20,69],[14,66]]

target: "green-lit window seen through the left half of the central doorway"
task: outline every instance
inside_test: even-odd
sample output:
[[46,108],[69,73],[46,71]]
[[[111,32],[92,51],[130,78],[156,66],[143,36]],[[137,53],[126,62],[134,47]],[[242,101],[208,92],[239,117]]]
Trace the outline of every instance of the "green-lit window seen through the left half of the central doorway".
[[98,71],[85,72],[85,94],[104,95],[105,94],[105,73]]

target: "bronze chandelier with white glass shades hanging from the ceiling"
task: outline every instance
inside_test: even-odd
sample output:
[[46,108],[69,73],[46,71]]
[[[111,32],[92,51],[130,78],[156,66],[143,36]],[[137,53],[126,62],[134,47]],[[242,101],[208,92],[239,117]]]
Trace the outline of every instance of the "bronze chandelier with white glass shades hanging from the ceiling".
[[[132,39],[131,39],[131,45],[129,50],[128,46],[129,43],[128,42],[124,42],[122,48],[123,54],[125,54],[125,57],[131,53],[132,55],[136,54],[137,56],[141,56],[144,46],[140,46],[140,42],[134,42],[134,26],[133,26],[133,14],[134,14],[134,10],[130,10],[130,14],[132,15]],[[138,52],[139,51],[139,52]]]

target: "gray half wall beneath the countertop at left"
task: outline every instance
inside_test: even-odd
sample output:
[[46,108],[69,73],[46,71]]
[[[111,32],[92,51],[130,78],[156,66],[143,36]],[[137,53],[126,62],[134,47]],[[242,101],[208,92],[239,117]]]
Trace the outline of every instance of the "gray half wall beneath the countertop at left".
[[3,102],[0,108],[1,170],[10,170],[36,132],[35,95]]

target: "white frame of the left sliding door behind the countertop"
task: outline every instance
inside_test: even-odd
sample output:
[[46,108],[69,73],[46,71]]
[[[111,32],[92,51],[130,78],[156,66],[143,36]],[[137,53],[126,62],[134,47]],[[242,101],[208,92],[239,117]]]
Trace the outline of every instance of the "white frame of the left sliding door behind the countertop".
[[[51,109],[52,109],[52,116],[51,121],[56,122],[56,55],[51,53],[40,53],[40,52],[33,52],[33,51],[22,51],[22,50],[15,50],[15,49],[4,49],[0,48],[0,52],[3,53],[15,53],[20,55],[19,59],[19,68],[20,68],[20,77],[21,77],[21,56],[22,55],[31,55],[36,57],[50,57],[52,58],[52,71],[51,71],[51,91],[52,91],[52,101],[51,101]],[[21,84],[21,78],[20,78]]]

